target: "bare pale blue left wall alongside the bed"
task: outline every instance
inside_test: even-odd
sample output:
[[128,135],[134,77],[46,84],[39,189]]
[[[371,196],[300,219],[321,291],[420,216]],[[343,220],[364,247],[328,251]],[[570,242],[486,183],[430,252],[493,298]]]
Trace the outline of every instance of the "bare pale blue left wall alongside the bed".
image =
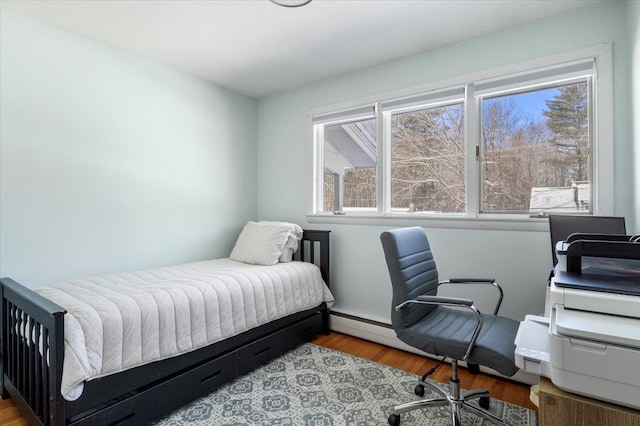
[[257,100],[2,11],[0,276],[227,256],[256,217]]

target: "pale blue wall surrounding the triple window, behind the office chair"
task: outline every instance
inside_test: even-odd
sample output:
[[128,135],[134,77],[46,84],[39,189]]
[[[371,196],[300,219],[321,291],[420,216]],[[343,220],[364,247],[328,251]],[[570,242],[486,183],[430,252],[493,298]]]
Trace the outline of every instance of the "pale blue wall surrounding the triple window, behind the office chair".
[[[477,38],[260,100],[258,216],[309,226],[306,218],[314,108],[407,88],[540,56],[613,43],[615,214],[637,227],[631,133],[631,81],[625,14],[637,5],[608,1],[576,12]],[[637,176],[637,175],[636,175]],[[382,226],[311,224],[332,230],[336,308],[388,321],[391,289],[379,234]],[[502,313],[540,313],[551,268],[547,232],[428,229],[441,275],[495,276],[505,288]],[[477,292],[470,293],[480,297]],[[485,309],[486,310],[486,309]]]

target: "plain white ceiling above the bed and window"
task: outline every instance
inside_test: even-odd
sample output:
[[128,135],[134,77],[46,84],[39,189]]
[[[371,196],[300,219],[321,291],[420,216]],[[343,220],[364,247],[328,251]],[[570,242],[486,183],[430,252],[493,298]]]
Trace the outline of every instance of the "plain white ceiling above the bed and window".
[[263,97],[594,0],[1,0],[0,7]]

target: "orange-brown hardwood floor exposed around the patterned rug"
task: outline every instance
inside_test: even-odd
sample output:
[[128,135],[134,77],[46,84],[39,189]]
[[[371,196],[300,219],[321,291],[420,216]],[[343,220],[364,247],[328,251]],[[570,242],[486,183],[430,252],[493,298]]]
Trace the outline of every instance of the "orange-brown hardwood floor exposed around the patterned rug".
[[[320,336],[316,338],[313,343],[417,375],[422,375],[436,364],[434,360],[429,358],[424,358],[409,352],[389,348],[387,346],[357,339],[340,333],[331,333],[328,336]],[[533,410],[537,409],[529,400],[529,386],[527,385],[522,385],[509,380],[501,380],[483,373],[473,375],[467,372],[464,368],[460,368],[458,373],[460,377],[460,385],[464,389],[489,389],[493,398]],[[448,382],[450,374],[451,368],[449,367],[449,364],[443,364],[432,376],[430,376],[430,378],[446,383]],[[415,398],[415,395],[407,395],[405,400],[398,402],[407,402],[410,401],[411,398]],[[27,422],[20,415],[10,399],[0,400],[0,425],[27,425]]]

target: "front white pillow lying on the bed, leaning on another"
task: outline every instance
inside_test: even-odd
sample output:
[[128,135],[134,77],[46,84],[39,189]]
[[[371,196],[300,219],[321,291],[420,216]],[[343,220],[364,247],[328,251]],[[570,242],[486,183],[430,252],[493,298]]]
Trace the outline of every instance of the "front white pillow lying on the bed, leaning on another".
[[290,234],[286,225],[247,222],[229,257],[254,265],[275,265]]

